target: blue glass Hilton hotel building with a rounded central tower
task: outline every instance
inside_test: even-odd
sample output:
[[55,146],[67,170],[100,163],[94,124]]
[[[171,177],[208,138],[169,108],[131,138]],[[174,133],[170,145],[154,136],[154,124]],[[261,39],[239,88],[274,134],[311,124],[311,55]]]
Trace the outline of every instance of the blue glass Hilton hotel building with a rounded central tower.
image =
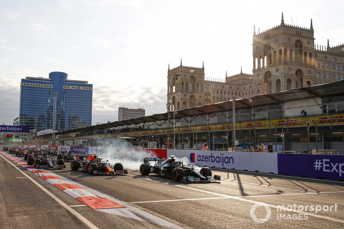
[[[20,125],[37,131],[67,130],[90,126],[93,84],[68,80],[64,72],[51,72],[49,78],[26,77],[20,84]],[[56,92],[56,114],[54,110]],[[53,127],[53,119],[56,126]]]

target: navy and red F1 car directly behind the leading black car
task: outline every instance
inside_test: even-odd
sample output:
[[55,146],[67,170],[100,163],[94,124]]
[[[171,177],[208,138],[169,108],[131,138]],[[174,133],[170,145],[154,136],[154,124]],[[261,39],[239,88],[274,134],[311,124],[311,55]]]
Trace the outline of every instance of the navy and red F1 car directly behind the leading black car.
[[128,170],[123,170],[121,163],[115,163],[110,165],[109,160],[102,161],[102,158],[98,158],[96,154],[89,155],[86,160],[73,160],[71,162],[71,169],[82,169],[89,174],[95,175],[120,175],[128,173]]

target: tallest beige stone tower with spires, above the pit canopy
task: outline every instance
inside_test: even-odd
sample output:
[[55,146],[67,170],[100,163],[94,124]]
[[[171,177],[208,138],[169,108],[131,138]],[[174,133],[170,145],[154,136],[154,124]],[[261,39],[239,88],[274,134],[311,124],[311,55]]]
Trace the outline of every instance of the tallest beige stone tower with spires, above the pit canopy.
[[314,30],[281,24],[253,32],[253,77],[257,95],[314,85]]

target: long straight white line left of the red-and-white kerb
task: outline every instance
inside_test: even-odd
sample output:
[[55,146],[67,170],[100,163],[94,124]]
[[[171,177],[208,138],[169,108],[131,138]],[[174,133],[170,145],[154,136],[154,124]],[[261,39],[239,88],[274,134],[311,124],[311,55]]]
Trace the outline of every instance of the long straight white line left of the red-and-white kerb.
[[[4,156],[0,155],[5,161],[7,161],[8,163],[12,164],[9,160],[7,160]],[[75,210],[73,210],[71,207],[69,207],[67,204],[65,204],[61,199],[57,198],[54,194],[52,194],[51,192],[49,192],[48,190],[46,190],[42,185],[40,185],[39,183],[37,183],[35,180],[33,180],[29,175],[27,175],[26,173],[24,173],[23,171],[21,171],[17,166],[14,166],[14,168],[16,168],[19,172],[21,172],[22,174],[24,174],[27,178],[30,179],[30,181],[32,181],[32,183],[34,183],[35,185],[37,185],[39,188],[41,188],[46,194],[50,195],[57,203],[61,204],[62,207],[64,207],[67,211],[69,211],[71,214],[73,214],[76,218],[78,218],[80,221],[82,221],[84,224],[86,224],[86,226],[88,226],[91,229],[99,229],[98,227],[96,227],[94,224],[92,224],[92,222],[88,221],[85,217],[83,217],[82,215],[80,215],[79,213],[77,213]]]

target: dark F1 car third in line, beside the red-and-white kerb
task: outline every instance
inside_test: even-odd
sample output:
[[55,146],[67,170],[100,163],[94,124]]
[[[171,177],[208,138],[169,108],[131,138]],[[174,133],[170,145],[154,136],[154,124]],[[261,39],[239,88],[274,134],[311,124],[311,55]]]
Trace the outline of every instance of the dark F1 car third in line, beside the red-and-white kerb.
[[34,165],[37,169],[64,169],[66,165],[63,159],[54,160],[47,153],[29,154],[27,158],[28,165]]

